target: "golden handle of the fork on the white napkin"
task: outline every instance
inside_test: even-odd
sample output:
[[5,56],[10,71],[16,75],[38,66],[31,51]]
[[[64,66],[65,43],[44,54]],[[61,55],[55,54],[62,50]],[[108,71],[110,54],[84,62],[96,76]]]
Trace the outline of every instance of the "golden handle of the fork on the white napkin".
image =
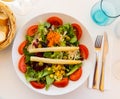
[[94,78],[93,78],[93,88],[97,89],[98,81],[98,55],[96,56],[95,70],[94,70]]

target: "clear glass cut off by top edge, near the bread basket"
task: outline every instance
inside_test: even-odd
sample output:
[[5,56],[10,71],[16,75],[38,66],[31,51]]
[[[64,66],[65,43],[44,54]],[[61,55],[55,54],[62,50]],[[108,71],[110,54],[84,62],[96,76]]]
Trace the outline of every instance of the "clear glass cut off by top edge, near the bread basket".
[[11,6],[18,15],[25,15],[32,9],[31,0],[1,0],[5,4]]

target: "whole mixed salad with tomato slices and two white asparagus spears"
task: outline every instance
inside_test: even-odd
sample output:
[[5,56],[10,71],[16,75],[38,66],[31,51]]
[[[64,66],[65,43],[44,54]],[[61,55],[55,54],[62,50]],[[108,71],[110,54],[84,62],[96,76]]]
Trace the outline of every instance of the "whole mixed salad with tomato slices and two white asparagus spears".
[[46,90],[51,85],[65,87],[82,75],[82,61],[89,56],[88,48],[79,44],[82,29],[77,23],[65,23],[52,16],[34,24],[26,31],[19,47],[19,70],[34,88]]

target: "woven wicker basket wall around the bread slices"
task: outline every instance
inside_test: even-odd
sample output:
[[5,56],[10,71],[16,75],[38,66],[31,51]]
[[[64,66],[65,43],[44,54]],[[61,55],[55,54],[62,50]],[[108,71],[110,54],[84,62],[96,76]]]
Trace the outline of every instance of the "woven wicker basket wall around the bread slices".
[[4,13],[6,16],[8,16],[8,28],[9,31],[5,37],[5,40],[3,42],[0,42],[0,50],[5,49],[7,46],[9,46],[15,36],[16,33],[16,18],[12,12],[12,10],[5,5],[4,3],[0,2],[0,12]]

